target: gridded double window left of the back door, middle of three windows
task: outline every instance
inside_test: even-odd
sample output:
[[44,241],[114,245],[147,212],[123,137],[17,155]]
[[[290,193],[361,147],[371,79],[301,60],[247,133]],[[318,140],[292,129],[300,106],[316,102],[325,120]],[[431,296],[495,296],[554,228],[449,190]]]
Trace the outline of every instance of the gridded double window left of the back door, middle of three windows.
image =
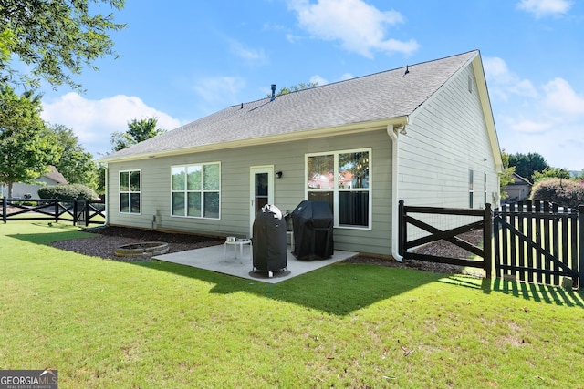
[[221,165],[173,166],[171,201],[172,216],[219,219]]

